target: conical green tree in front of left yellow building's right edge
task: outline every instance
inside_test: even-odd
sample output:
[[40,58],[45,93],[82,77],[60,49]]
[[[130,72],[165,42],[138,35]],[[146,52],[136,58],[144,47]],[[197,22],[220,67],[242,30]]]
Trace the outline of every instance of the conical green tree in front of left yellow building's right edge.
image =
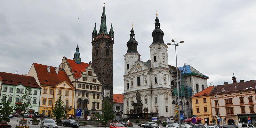
[[61,100],[61,95],[59,96],[59,99],[54,104],[55,104],[55,108],[52,109],[52,114],[56,117],[56,120],[58,120],[61,117],[64,117],[64,113],[65,113],[63,101]]

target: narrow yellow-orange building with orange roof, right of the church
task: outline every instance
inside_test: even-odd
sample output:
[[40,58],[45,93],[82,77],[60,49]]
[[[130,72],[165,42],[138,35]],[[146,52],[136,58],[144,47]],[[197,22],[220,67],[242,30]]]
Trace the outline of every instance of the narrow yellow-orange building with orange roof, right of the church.
[[210,93],[215,86],[209,86],[191,97],[193,115],[203,119],[201,123],[212,124]]

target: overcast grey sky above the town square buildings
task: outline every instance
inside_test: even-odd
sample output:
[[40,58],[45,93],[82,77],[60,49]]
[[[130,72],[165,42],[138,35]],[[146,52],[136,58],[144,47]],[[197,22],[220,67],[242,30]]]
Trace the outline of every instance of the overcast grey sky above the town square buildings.
[[[99,32],[103,0],[1,0],[0,71],[27,74],[32,63],[59,67],[73,59],[76,44],[82,62],[92,60],[92,30]],[[114,93],[124,90],[124,54],[131,24],[142,61],[150,57],[158,10],[164,42],[184,40],[177,47],[178,67],[191,65],[208,84],[256,79],[256,1],[236,0],[105,0],[107,29],[115,32]],[[168,47],[175,66],[175,48]]]

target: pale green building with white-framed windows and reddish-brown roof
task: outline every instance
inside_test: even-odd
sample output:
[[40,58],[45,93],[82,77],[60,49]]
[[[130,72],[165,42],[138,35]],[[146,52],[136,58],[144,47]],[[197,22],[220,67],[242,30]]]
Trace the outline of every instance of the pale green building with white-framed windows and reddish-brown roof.
[[[25,99],[22,98],[22,95],[24,95],[26,87],[30,87],[31,92],[28,97],[28,102],[31,102],[31,108],[28,109],[28,112],[31,114],[39,112],[41,87],[37,84],[34,77],[0,72],[0,85],[0,99],[10,101],[11,106],[24,102]],[[17,110],[15,110],[15,112],[17,112]]]

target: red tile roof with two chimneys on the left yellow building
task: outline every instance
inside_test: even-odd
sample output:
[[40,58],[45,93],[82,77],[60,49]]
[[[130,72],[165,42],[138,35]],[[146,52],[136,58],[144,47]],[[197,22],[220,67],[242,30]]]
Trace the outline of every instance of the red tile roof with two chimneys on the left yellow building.
[[59,73],[57,74],[55,72],[54,67],[50,66],[50,73],[48,73],[46,69],[48,67],[47,65],[42,65],[37,63],[33,63],[33,65],[36,69],[36,74],[41,85],[54,86],[63,81],[67,81],[69,84],[71,84],[71,81],[68,78],[68,75],[66,74],[64,69],[60,68]]

